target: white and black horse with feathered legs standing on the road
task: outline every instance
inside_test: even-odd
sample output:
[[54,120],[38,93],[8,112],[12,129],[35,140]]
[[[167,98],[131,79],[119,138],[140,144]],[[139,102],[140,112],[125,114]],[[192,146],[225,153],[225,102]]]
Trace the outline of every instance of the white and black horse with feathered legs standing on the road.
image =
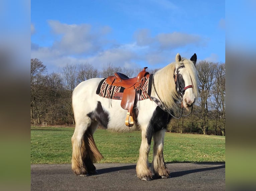
[[[138,100],[134,105],[137,117],[134,125],[129,127],[124,124],[126,110],[120,106],[121,100],[110,101],[109,98],[95,93],[102,78],[81,82],[72,95],[76,123],[71,138],[74,174],[84,177],[97,173],[94,163],[100,161],[103,156],[95,144],[93,134],[101,124],[111,131],[141,131],[141,145],[136,164],[136,174],[140,180],[152,180],[153,177],[170,178],[170,171],[163,157],[164,134],[167,124],[174,117],[177,103],[181,102],[181,107],[189,110],[198,97],[196,62],[196,54],[186,59],[178,53],[175,62],[155,72],[151,98],[160,100],[160,104],[149,98]],[[163,109],[163,106],[166,109]],[[153,160],[149,168],[148,154],[152,138],[154,139]]]

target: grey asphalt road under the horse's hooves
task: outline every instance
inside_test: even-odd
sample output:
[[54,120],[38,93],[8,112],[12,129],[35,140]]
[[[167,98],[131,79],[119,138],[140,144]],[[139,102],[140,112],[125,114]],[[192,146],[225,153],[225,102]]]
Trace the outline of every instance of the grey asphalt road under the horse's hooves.
[[98,173],[73,174],[71,164],[31,165],[31,190],[225,190],[225,163],[169,163],[171,178],[141,181],[134,163],[95,164]]

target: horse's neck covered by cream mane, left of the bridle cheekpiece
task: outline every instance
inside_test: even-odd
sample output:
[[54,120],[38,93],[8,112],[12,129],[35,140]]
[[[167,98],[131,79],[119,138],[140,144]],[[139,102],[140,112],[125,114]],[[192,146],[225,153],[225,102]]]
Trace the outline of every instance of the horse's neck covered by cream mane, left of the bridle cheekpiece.
[[169,64],[154,75],[154,85],[157,96],[168,108],[175,106],[175,100],[178,98],[173,73],[175,64]]

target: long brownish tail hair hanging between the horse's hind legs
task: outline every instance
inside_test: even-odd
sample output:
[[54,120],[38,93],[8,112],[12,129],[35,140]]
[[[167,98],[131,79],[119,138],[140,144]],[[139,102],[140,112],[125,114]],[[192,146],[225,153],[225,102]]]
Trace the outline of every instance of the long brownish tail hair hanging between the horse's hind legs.
[[95,144],[93,133],[90,129],[87,129],[87,131],[84,134],[81,152],[83,155],[82,158],[85,159],[89,155],[93,163],[99,162],[101,159],[103,159],[102,154],[100,153]]

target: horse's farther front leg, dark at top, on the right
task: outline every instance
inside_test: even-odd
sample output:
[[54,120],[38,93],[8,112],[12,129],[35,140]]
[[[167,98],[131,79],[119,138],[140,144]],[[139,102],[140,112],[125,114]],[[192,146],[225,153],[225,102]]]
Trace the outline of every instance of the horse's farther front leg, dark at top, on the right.
[[152,171],[155,176],[161,178],[170,178],[170,171],[166,167],[163,159],[163,140],[165,129],[154,132],[153,161]]

